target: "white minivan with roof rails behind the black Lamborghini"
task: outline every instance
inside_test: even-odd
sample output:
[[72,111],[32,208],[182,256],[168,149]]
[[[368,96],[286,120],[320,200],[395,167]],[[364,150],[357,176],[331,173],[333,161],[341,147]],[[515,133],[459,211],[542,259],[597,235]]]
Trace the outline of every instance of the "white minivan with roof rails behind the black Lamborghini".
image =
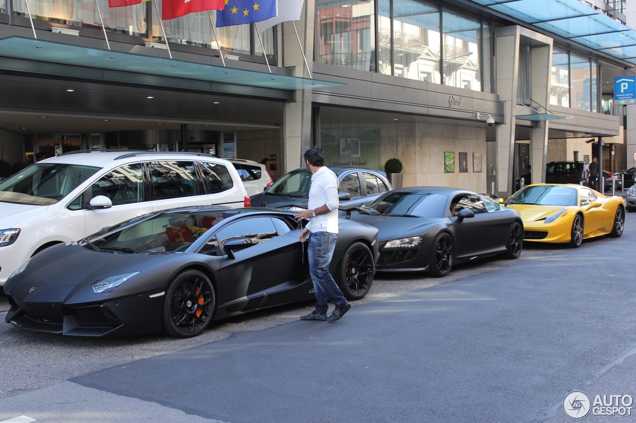
[[57,243],[165,208],[249,206],[232,163],[208,154],[80,151],[39,161],[0,182],[0,286]]

